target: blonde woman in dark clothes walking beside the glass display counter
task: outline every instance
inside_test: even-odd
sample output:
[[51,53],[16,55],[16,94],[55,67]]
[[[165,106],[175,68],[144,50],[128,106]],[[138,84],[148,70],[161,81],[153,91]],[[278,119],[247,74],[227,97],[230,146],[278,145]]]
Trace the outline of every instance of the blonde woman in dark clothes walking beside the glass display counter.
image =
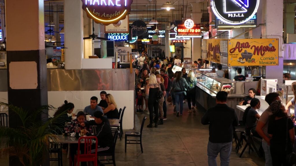
[[[192,70],[189,70],[188,75],[186,77],[186,82],[188,84],[187,88],[187,102],[188,102],[188,108],[189,108],[189,113],[192,112],[191,109],[193,109],[193,112],[195,112],[194,107],[195,107],[195,94],[196,94],[196,77],[194,77],[194,72]],[[191,105],[192,102],[192,105]]]

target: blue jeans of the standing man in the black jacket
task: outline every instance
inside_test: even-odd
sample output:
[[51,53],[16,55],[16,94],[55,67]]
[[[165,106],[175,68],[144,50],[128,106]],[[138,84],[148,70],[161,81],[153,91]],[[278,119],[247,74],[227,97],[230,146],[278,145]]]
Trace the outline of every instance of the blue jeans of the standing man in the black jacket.
[[209,166],[217,166],[216,157],[220,153],[221,166],[229,165],[229,157],[231,154],[232,142],[207,144],[207,156]]

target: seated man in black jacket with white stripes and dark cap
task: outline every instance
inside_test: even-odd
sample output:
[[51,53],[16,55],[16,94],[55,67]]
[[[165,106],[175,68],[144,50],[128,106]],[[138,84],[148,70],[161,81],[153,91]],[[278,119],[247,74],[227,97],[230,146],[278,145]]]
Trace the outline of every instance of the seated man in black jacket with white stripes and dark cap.
[[[87,121],[86,126],[97,126],[96,127],[96,137],[98,138],[98,149],[97,153],[110,153],[113,149],[113,136],[110,127],[109,120],[104,117],[101,111],[94,112],[94,120]],[[81,133],[86,134],[86,136],[92,136],[89,131],[82,130]],[[95,146],[95,144],[94,144]],[[92,153],[95,152],[94,147],[92,147]],[[91,162],[91,166],[93,163]]]

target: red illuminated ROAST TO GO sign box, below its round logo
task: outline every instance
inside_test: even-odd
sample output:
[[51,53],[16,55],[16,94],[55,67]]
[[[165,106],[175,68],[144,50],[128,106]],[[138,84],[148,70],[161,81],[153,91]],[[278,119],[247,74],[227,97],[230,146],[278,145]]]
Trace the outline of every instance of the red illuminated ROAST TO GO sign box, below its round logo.
[[178,24],[177,25],[177,35],[176,37],[201,37],[201,30],[200,30],[200,24],[194,24],[194,26],[191,29],[188,29],[185,27],[184,24]]

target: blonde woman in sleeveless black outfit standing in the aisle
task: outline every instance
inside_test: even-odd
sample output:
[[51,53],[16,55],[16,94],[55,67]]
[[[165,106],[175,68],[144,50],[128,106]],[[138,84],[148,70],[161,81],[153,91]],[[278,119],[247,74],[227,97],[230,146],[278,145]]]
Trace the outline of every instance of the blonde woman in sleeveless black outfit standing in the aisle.
[[157,83],[156,76],[151,74],[149,77],[149,84],[147,84],[145,92],[148,95],[148,108],[149,108],[149,120],[150,123],[147,127],[153,127],[153,110],[155,112],[155,127],[157,127],[158,121],[158,100],[157,91],[160,90],[160,85]]

